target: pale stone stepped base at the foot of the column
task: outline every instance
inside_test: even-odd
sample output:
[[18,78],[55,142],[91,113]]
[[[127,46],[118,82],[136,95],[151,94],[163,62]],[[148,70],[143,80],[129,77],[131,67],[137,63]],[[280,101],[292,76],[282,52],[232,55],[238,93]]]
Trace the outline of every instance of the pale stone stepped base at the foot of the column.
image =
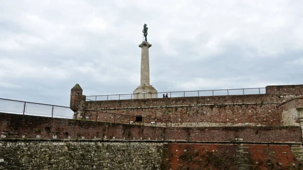
[[133,95],[134,99],[158,98],[158,91],[151,85],[140,85],[134,90]]

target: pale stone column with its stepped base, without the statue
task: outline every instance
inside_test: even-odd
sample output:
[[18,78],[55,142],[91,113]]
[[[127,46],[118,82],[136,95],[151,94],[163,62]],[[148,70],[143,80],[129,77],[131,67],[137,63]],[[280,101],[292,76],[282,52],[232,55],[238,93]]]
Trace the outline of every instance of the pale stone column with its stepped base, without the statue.
[[134,99],[139,98],[158,98],[157,90],[149,85],[149,54],[148,48],[151,44],[143,41],[141,47],[141,78],[140,85],[134,90]]

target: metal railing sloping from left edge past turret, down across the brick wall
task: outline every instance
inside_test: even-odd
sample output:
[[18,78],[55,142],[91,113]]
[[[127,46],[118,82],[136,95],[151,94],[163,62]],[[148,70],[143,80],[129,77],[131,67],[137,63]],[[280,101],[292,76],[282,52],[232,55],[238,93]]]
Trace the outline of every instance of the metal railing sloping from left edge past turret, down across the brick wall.
[[[83,116],[78,118],[78,114],[83,112]],[[170,120],[162,120],[156,118],[148,118],[142,116],[132,116],[116,114],[112,112],[99,111],[99,110],[88,110],[79,109],[74,112],[70,107],[51,105],[44,103],[35,103],[20,100],[11,100],[0,98],[0,112],[7,114],[19,114],[19,115],[30,115],[30,116],[43,116],[51,118],[67,118],[67,119],[81,119],[86,121],[98,121],[98,122],[110,122],[110,123],[122,123],[122,124],[134,124],[143,126],[172,126]],[[141,121],[137,119],[141,118]]]

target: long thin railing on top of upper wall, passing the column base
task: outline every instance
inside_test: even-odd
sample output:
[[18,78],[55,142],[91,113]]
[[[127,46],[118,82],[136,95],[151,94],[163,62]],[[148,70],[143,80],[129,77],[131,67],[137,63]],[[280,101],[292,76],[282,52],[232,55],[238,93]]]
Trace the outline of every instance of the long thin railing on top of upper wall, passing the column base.
[[[261,88],[241,88],[241,89],[220,89],[220,90],[195,90],[195,91],[168,91],[158,93],[140,93],[140,98],[148,98],[150,94],[156,94],[158,98],[163,98],[163,94],[168,97],[199,97],[199,96],[220,96],[220,95],[247,95],[247,94],[265,94],[265,87]],[[108,94],[86,96],[86,101],[98,100],[125,100],[133,99],[138,94]]]

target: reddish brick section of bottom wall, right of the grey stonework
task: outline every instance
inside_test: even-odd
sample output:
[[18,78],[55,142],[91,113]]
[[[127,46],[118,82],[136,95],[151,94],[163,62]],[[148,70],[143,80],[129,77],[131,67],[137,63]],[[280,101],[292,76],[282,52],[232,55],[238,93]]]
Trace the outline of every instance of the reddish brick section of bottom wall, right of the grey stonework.
[[296,146],[168,143],[163,169],[303,169],[292,147]]

